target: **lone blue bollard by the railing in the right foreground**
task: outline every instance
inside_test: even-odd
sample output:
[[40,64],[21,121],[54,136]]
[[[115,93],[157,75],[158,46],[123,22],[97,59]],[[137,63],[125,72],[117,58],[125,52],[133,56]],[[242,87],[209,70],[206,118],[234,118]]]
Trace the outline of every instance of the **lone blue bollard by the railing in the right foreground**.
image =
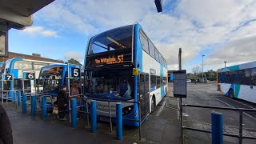
[[223,143],[223,120],[222,113],[211,112],[211,143]]

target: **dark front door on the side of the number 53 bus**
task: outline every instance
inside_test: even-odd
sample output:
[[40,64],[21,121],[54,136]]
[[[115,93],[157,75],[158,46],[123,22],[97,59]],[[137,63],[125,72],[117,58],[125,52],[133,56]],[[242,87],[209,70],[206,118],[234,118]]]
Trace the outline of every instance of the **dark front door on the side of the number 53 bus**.
[[150,83],[149,74],[140,74],[139,101],[141,102],[141,116],[145,118],[150,113]]

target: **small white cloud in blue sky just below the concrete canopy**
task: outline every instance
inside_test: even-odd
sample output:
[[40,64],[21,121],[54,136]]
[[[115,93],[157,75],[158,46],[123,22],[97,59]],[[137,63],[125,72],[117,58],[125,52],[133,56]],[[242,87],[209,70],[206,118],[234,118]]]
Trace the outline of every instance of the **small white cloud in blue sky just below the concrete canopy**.
[[32,34],[32,35],[40,34],[40,35],[45,36],[45,37],[58,37],[58,34],[56,33],[56,31],[46,30],[42,26],[26,27],[26,29],[22,30],[22,32],[24,32],[26,34]]

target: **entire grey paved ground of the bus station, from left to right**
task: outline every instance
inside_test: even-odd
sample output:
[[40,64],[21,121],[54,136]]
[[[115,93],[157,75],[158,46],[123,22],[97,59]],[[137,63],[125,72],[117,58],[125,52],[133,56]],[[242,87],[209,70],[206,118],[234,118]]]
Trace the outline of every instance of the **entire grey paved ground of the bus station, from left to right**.
[[[183,103],[206,106],[245,107],[252,108],[255,104],[225,98],[216,91],[214,84],[188,84],[188,98]],[[21,109],[9,104],[6,107],[13,128],[14,143],[181,143],[178,122],[177,98],[172,96],[172,85],[167,97],[156,107],[153,114],[142,124],[142,141],[138,140],[138,128],[124,127],[123,140],[115,140],[115,127],[110,132],[108,123],[99,122],[96,134],[90,133],[83,118],[78,119],[78,128],[72,129],[70,122],[59,122],[54,116],[46,120],[40,118],[38,109],[36,117],[22,114]],[[210,130],[210,112],[212,110],[185,108],[184,125],[203,130]],[[223,111],[224,132],[238,134],[238,112]],[[244,133],[248,136],[256,136],[255,115],[244,114]],[[211,143],[210,134],[185,130],[185,143]],[[224,137],[225,143],[238,143],[237,138]],[[244,143],[256,143],[255,140],[243,140]]]

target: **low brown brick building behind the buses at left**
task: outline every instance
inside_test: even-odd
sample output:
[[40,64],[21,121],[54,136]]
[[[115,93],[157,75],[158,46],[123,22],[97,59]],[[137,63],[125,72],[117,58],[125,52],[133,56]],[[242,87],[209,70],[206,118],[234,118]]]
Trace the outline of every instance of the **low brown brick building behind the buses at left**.
[[8,58],[0,57],[0,62],[6,62],[6,60],[11,59],[11,58],[25,58],[25,59],[32,59],[32,60],[37,60],[37,61],[64,63],[62,60],[55,60],[55,59],[51,59],[51,58],[42,58],[41,54],[27,55],[27,54],[18,54],[18,53],[14,53],[14,52],[9,52]]

